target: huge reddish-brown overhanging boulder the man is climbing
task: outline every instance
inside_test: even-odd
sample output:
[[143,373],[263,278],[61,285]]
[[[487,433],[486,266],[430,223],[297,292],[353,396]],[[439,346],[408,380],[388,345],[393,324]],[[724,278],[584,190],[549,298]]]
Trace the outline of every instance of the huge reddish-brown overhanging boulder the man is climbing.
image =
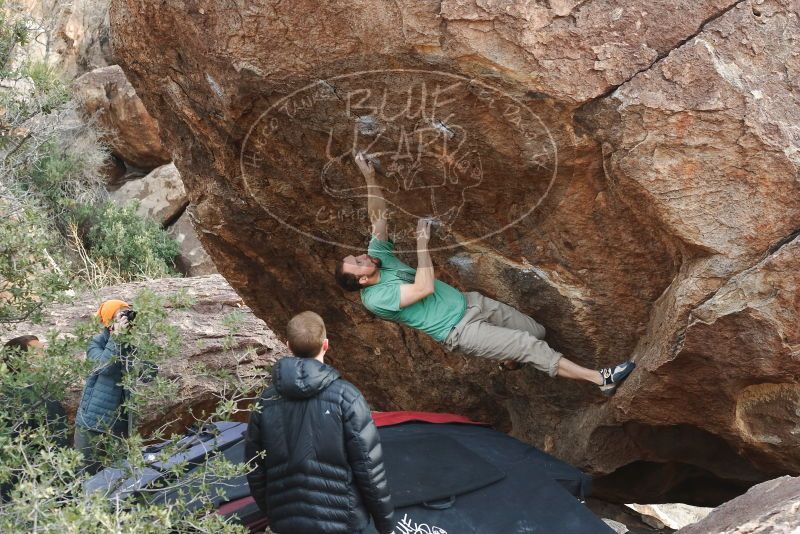
[[[377,408],[493,422],[614,473],[608,495],[708,503],[800,471],[792,5],[116,0],[111,18],[255,313],[320,313]],[[631,355],[629,384],[606,401],[501,372],[340,291],[368,239],[353,150],[380,161],[404,259],[436,216],[438,276],[583,365]]]

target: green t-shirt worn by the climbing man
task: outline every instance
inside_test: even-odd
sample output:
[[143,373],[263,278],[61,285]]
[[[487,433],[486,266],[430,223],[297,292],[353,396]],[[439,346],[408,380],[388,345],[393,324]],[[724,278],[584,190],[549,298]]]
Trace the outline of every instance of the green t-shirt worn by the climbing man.
[[432,295],[405,308],[400,307],[400,286],[414,283],[416,270],[394,256],[394,244],[373,236],[367,254],[380,258],[381,279],[361,290],[361,302],[380,317],[422,330],[436,341],[444,341],[450,330],[464,317],[467,299],[464,293],[440,280],[434,282]]

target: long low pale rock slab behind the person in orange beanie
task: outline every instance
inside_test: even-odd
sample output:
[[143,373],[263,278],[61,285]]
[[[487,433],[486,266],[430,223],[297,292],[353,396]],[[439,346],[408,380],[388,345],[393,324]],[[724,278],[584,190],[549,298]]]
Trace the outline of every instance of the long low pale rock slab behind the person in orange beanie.
[[[153,425],[172,422],[172,428],[186,428],[193,419],[191,413],[210,410],[223,393],[222,381],[212,373],[224,371],[241,377],[260,391],[268,383],[270,369],[278,357],[288,351],[263,321],[253,315],[241,298],[220,275],[195,278],[164,278],[147,282],[107,287],[96,293],[80,295],[71,304],[53,305],[44,314],[41,324],[19,324],[7,332],[7,338],[35,334],[46,339],[46,334],[56,329],[70,331],[80,320],[97,312],[100,302],[109,298],[122,298],[131,302],[136,294],[149,289],[168,297],[179,291],[193,300],[188,308],[167,304],[169,321],[178,328],[181,342],[180,354],[167,360],[159,373],[177,380],[179,393],[162,406],[153,406],[142,418],[145,432]],[[231,329],[226,317],[237,317],[237,328],[231,342],[226,336]],[[82,357],[82,355],[77,355]],[[67,412],[75,416],[83,384],[76,384],[70,392]]]

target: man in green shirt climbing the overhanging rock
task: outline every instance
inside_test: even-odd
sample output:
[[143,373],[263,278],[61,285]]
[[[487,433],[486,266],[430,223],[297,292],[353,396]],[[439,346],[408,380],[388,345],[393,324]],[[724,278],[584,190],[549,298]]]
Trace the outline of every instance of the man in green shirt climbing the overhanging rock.
[[336,281],[343,289],[360,291],[370,312],[420,330],[448,350],[531,363],[550,376],[586,380],[600,386],[604,394],[614,394],[636,367],[634,362],[600,370],[582,367],[553,350],[543,340],[544,327],[531,317],[481,293],[462,293],[437,280],[428,251],[430,219],[417,224],[417,268],[397,259],[374,166],[363,153],[355,160],[367,183],[372,239],[366,254],[347,256],[336,266]]

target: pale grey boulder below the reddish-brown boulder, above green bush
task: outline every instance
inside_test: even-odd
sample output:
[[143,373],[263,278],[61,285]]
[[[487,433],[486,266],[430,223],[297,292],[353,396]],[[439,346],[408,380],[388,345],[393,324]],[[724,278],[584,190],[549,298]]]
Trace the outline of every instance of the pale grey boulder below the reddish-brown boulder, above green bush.
[[153,169],[144,178],[125,182],[110,196],[117,204],[138,200],[139,214],[163,225],[176,221],[189,203],[181,173],[172,163]]

